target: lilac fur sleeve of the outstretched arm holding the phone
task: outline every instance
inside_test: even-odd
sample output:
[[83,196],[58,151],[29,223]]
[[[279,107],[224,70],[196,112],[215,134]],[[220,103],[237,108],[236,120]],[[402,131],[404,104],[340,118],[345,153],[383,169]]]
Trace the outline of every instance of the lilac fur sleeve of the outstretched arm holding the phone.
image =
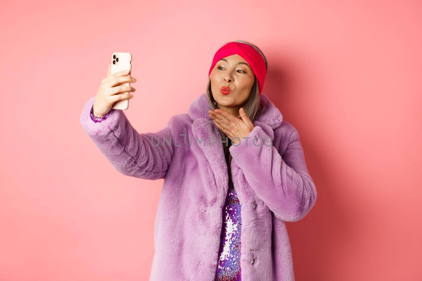
[[95,97],[85,104],[80,122],[114,168],[131,177],[164,179],[173,156],[174,147],[170,139],[173,118],[156,133],[139,134],[123,110],[111,109],[106,120],[93,122],[89,111],[94,100]]

